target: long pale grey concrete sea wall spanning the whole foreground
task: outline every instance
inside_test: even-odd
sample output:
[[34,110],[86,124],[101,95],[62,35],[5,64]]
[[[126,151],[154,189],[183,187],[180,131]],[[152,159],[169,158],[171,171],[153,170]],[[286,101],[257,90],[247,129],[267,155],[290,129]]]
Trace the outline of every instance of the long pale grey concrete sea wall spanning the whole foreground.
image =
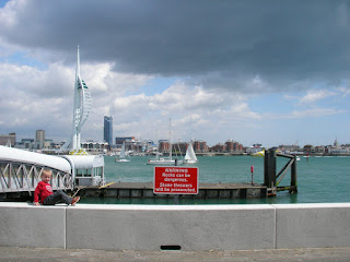
[[0,203],[0,246],[184,251],[350,246],[350,203],[84,205]]

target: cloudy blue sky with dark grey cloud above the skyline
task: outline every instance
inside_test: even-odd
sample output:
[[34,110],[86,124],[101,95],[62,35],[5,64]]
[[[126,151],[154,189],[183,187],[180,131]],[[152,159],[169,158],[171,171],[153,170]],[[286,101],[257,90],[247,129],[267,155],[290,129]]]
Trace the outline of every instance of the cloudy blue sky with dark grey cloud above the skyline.
[[0,134],[350,143],[350,2],[0,0]]

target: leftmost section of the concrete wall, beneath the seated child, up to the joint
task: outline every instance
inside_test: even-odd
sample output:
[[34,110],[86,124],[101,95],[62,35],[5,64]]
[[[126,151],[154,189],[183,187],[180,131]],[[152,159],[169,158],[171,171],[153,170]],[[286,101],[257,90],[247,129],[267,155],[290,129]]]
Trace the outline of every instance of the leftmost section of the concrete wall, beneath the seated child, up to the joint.
[[0,203],[0,246],[66,248],[66,210]]

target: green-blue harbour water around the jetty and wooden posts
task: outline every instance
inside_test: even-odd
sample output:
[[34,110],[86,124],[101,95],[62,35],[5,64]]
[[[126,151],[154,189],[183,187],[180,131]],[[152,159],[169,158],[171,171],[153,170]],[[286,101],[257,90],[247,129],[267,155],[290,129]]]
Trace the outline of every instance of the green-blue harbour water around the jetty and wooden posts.
[[[115,157],[105,156],[106,182],[152,182],[154,166],[145,165],[148,157],[133,156],[130,163],[115,163]],[[254,182],[264,182],[264,158],[252,156],[199,156],[199,183],[250,182],[250,166],[254,166]],[[277,158],[277,171],[287,163]],[[280,186],[290,184],[288,171]],[[298,162],[298,193],[279,192],[276,198],[198,200],[179,199],[179,204],[267,204],[267,203],[339,203],[350,202],[350,157],[310,156]],[[116,199],[84,198],[81,203],[103,204],[174,204],[172,199]]]

